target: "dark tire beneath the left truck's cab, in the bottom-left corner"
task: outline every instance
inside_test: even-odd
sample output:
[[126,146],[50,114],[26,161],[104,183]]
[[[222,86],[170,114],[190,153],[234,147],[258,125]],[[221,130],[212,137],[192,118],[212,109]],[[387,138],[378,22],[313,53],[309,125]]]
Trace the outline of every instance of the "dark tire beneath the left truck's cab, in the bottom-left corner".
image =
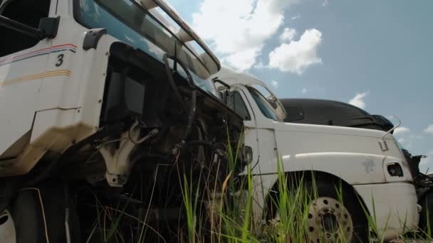
[[65,195],[63,185],[53,182],[20,190],[0,213],[0,242],[67,242],[66,206],[69,237],[71,242],[80,242],[78,216],[71,200],[66,199],[71,197]]

